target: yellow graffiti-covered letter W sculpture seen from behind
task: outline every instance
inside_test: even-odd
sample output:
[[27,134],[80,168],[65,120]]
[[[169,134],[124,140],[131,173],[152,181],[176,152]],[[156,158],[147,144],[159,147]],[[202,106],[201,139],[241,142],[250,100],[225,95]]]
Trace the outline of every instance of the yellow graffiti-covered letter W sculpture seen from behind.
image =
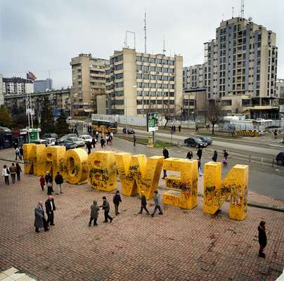
[[146,199],[151,199],[160,181],[163,159],[160,156],[147,159],[146,155],[117,153],[115,161],[122,185],[122,194],[133,196],[143,190]]

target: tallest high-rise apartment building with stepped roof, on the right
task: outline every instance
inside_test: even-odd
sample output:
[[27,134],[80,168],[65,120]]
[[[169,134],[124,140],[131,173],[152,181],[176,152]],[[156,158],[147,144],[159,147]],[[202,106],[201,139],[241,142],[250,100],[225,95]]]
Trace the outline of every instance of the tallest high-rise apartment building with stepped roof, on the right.
[[222,21],[216,39],[205,43],[207,99],[225,112],[271,106],[276,98],[276,34],[244,18]]

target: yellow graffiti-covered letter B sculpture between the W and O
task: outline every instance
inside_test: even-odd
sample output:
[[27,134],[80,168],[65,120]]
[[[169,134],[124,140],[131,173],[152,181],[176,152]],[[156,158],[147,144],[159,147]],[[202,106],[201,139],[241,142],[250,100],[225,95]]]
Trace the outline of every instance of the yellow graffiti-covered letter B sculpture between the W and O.
[[96,190],[112,191],[117,188],[115,152],[91,152],[88,156],[89,182]]

